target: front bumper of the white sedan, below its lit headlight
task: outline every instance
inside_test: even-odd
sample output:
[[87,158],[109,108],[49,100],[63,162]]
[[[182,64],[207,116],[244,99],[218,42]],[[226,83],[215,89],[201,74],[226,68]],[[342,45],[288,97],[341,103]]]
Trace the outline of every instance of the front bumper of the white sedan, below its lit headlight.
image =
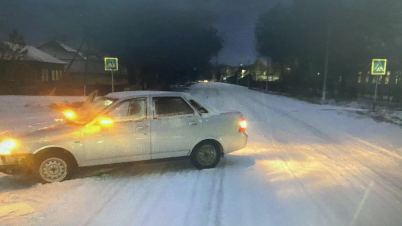
[[33,154],[0,155],[0,172],[9,175],[27,174],[33,166]]

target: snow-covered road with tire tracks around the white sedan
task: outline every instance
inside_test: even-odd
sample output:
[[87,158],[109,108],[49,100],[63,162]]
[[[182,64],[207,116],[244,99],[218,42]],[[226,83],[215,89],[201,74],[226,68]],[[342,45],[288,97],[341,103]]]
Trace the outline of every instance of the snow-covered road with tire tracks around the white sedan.
[[[249,121],[247,147],[202,171],[187,160],[122,164],[46,185],[0,174],[0,225],[402,225],[401,127],[356,118],[351,108],[222,83],[189,92],[241,111]],[[25,117],[52,114],[34,107],[20,114],[4,109],[4,100],[2,129],[15,129],[8,123],[15,118],[19,127]]]

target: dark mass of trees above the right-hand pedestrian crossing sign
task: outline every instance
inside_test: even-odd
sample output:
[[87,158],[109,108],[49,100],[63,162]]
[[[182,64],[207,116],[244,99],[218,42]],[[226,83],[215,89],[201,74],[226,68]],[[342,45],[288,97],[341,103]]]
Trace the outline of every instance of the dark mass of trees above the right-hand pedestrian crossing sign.
[[[288,91],[322,89],[328,56],[330,94],[353,95],[373,58],[401,68],[401,0],[294,0],[258,17],[256,50],[281,66]],[[319,94],[319,92],[317,93]]]

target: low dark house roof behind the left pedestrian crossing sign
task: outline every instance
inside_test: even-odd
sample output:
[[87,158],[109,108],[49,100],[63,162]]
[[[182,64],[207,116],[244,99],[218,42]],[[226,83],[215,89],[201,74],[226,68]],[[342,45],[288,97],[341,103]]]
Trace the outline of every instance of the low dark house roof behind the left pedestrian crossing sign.
[[[88,65],[87,65],[88,64]],[[110,74],[105,71],[103,60],[74,60],[71,64],[68,73],[92,73],[92,74]],[[127,69],[119,65],[117,74],[127,75]]]

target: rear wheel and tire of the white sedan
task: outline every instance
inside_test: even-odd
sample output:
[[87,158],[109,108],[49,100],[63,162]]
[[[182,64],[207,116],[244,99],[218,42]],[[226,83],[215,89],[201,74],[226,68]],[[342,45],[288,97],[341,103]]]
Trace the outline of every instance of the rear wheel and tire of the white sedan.
[[215,142],[205,141],[198,144],[190,154],[191,163],[199,170],[211,169],[221,160],[221,150]]

